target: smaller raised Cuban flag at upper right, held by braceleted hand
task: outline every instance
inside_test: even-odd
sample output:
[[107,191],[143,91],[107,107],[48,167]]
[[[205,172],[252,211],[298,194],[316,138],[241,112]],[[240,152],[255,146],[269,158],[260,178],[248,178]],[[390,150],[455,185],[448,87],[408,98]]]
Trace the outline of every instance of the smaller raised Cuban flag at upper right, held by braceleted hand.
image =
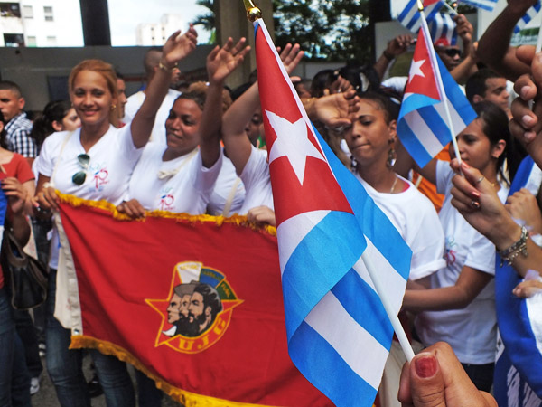
[[[436,64],[443,80],[445,95],[441,95],[437,85]],[[444,103],[450,110],[454,134],[448,123]],[[401,143],[416,164],[423,168],[474,118],[476,113],[469,100],[420,28],[397,121],[397,135]]]

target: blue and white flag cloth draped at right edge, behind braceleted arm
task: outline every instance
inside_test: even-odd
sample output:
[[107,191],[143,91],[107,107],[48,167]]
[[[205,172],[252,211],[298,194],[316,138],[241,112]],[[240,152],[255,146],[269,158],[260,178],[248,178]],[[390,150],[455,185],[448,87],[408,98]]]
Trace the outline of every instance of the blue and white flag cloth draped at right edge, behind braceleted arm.
[[[509,194],[521,188],[538,190],[540,169],[530,156],[521,163]],[[518,298],[512,290],[522,281],[497,254],[495,305],[499,324],[499,354],[494,393],[500,407],[542,406],[542,294]]]

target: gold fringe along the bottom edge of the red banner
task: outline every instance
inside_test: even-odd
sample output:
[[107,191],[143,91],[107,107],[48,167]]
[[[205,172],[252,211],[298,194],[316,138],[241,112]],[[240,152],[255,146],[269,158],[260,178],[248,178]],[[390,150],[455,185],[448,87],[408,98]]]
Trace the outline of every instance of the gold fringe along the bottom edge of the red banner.
[[152,374],[144,364],[132,354],[122,347],[112,344],[111,342],[96,339],[92,336],[71,336],[70,349],[92,348],[97,349],[104,355],[113,355],[117,359],[128,364],[132,364],[137,370],[146,374],[154,380],[156,387],[168,394],[176,402],[181,402],[185,407],[271,407],[264,404],[252,404],[247,402],[231,402],[229,400],[218,399],[216,397],[205,396],[198,393],[191,393],[185,390],[174,387],[169,383],[164,382],[160,377]]

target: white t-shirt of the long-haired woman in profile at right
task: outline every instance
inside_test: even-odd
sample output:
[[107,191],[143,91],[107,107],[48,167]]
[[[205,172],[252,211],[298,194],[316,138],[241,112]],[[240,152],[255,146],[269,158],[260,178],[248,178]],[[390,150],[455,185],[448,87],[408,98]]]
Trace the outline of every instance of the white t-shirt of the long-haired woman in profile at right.
[[[463,266],[495,275],[495,246],[465,221],[463,215],[451,204],[453,175],[450,163],[437,162],[437,192],[445,194],[439,218],[446,238],[447,266],[432,276],[431,287],[434,289],[455,285]],[[501,187],[500,200],[504,202],[507,194],[508,189]],[[433,345],[438,341],[449,343],[463,364],[495,362],[495,280],[491,279],[471,304],[463,309],[418,314],[416,332],[424,345]]]

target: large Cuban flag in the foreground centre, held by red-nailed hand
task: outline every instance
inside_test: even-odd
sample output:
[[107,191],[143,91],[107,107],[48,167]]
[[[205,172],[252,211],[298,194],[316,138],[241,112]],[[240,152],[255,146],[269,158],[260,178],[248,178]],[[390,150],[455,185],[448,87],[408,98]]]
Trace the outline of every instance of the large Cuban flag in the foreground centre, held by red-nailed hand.
[[288,350],[335,405],[371,406],[393,330],[360,256],[398,313],[411,251],[313,128],[262,20],[255,35]]

